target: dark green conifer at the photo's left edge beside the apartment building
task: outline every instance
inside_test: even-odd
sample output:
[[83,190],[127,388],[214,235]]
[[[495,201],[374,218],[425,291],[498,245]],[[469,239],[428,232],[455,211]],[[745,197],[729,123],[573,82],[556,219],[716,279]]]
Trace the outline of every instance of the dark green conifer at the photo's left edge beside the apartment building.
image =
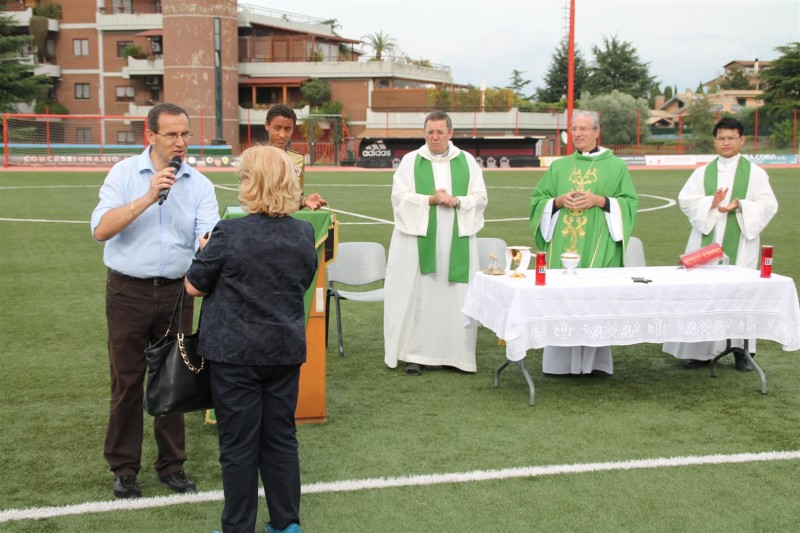
[[0,14],[0,112],[13,113],[17,104],[41,98],[50,89],[50,78],[33,75],[33,65],[20,63],[22,48],[30,35],[12,35],[14,22]]

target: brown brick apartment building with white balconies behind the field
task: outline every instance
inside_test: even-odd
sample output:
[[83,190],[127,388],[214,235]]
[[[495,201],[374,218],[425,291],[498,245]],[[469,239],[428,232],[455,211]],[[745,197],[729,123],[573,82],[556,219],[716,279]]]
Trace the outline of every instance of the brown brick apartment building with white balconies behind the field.
[[[41,3],[9,0],[5,11],[19,32],[28,33]],[[159,102],[179,103],[189,112],[193,143],[230,145],[234,153],[265,140],[262,125],[275,103],[292,105],[301,123],[307,121],[300,86],[311,78],[330,85],[349,134],[369,144],[379,138],[421,143],[422,120],[431,110],[426,95],[463,89],[449,67],[408,57],[375,60],[365,56],[359,39],[338,35],[331,21],[236,0],[57,3],[61,18],[47,19],[38,40],[44,44],[29,56],[37,73],[53,78],[53,102],[70,115],[123,117],[145,116]],[[457,136],[527,139],[530,164],[537,141],[549,136],[552,153],[559,124],[566,124],[562,115],[520,114],[510,106],[451,116]],[[322,135],[329,135],[324,126]],[[138,143],[142,128],[132,123],[109,142]],[[302,132],[296,135],[302,144]],[[499,161],[502,154],[495,155]]]

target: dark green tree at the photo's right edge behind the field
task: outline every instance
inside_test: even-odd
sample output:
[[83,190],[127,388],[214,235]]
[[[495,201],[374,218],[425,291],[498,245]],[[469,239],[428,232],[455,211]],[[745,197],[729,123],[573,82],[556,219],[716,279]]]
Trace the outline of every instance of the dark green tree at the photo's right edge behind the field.
[[790,117],[800,109],[800,42],[779,46],[781,55],[768,69],[761,71],[764,89],[764,109],[775,118]]

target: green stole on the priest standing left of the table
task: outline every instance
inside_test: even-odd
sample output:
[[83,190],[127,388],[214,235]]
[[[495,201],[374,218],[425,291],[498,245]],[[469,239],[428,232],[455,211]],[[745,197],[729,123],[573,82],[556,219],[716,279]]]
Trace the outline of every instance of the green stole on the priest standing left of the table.
[[[453,196],[466,196],[469,186],[469,166],[464,152],[450,160],[450,185]],[[414,161],[414,186],[417,194],[431,196],[436,189],[433,180],[433,165],[430,160],[417,155]],[[417,237],[419,270],[422,274],[436,272],[436,208],[430,206],[428,232]],[[455,283],[469,282],[469,237],[458,236],[458,210],[453,217],[453,240],[450,246],[450,272],[448,279]]]

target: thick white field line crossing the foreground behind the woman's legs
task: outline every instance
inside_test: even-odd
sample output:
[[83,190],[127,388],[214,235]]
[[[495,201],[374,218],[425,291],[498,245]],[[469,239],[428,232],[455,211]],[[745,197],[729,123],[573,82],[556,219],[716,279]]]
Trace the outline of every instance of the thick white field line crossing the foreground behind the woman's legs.
[[[424,485],[441,485],[445,483],[471,483],[487,480],[532,478],[556,476],[562,474],[585,474],[592,472],[645,470],[682,466],[741,464],[786,460],[800,460],[800,450],[786,452],[737,453],[731,455],[689,455],[684,457],[660,457],[655,459],[636,459],[630,461],[612,461],[606,463],[578,463],[571,465],[504,468],[501,470],[473,470],[471,472],[456,472],[452,474],[428,474],[389,478],[380,477],[372,479],[352,479],[303,485],[302,493],[324,494],[333,492],[355,492],[361,490],[418,487]],[[16,520],[40,520],[43,518],[55,518],[85,513],[105,513],[109,511],[152,509],[186,503],[222,501],[223,499],[224,495],[222,491],[214,490],[199,492],[196,494],[175,494],[172,496],[137,498],[133,500],[90,502],[77,505],[66,505],[63,507],[7,509],[0,511],[0,523],[12,522]]]

